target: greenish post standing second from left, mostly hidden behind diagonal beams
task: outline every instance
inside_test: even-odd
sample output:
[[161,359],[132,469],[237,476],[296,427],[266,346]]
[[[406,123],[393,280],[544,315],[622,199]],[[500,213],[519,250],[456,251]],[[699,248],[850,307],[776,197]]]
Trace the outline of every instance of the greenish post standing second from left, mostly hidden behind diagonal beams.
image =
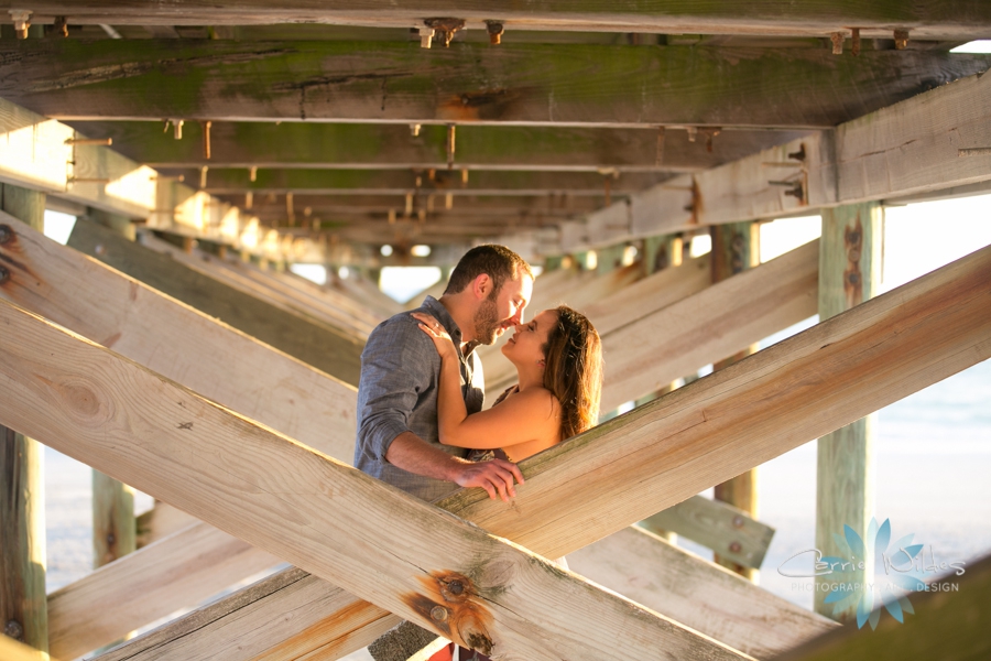
[[[137,237],[130,218],[99,209],[89,210],[90,219],[108,227],[126,239]],[[133,552],[138,548],[138,527],[134,521],[134,489],[92,472],[92,568]]]

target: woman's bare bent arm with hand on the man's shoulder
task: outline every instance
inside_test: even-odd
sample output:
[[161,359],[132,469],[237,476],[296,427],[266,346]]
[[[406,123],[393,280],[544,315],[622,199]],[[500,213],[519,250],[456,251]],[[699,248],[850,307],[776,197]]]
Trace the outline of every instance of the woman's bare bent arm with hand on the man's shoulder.
[[[457,349],[444,327],[428,315],[414,314],[420,327],[433,340],[440,355],[440,384],[437,394],[437,423],[440,443],[471,449],[510,447],[535,440],[557,441],[559,405],[543,388],[518,392],[500,405],[468,415],[461,394],[461,372]],[[531,453],[532,454],[532,453]]]

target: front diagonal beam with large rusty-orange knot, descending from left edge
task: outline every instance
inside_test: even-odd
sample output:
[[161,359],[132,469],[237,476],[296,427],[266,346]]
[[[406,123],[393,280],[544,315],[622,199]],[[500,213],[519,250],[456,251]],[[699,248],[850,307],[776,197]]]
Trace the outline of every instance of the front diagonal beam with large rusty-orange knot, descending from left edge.
[[0,422],[459,644],[548,660],[655,646],[749,658],[10,303],[0,311],[17,336],[0,339]]

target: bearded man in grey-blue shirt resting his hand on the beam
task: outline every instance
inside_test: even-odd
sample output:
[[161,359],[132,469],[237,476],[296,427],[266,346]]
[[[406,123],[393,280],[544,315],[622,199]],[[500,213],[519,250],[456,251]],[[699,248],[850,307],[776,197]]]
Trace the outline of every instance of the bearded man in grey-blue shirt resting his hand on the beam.
[[[433,315],[459,349],[469,414],[480,411],[484,400],[475,348],[522,323],[532,292],[533,273],[519,254],[503,246],[479,246],[458,262],[440,300],[427,296],[418,308]],[[481,487],[491,498],[509,500],[515,496],[514,480],[523,481],[515,464],[469,462],[467,451],[440,445],[439,375],[440,357],[410,313],[372,330],[361,354],[355,465],[427,501],[456,486]]]

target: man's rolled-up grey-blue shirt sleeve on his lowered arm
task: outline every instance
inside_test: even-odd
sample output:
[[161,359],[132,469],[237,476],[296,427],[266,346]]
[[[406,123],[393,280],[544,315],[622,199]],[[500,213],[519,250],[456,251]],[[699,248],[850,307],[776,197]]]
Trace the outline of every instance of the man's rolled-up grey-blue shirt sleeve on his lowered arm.
[[390,319],[372,332],[361,354],[356,465],[360,467],[362,458],[385,460],[395,437],[410,431],[421,398],[433,390],[439,362],[413,317]]

